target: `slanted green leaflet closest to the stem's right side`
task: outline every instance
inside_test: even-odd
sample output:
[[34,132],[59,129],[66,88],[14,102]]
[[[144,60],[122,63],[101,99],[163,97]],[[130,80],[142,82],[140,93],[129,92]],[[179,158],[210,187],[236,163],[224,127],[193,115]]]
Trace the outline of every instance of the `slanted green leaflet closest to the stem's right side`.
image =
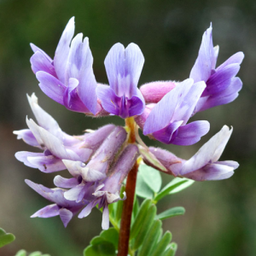
[[143,201],[141,207],[139,208],[137,216],[134,219],[133,224],[131,224],[130,240],[133,237],[137,236],[137,233],[141,229],[141,226],[143,224],[143,220],[146,218],[146,216],[148,214],[148,207],[150,206],[150,204],[151,204],[151,200],[150,199],[145,199]]

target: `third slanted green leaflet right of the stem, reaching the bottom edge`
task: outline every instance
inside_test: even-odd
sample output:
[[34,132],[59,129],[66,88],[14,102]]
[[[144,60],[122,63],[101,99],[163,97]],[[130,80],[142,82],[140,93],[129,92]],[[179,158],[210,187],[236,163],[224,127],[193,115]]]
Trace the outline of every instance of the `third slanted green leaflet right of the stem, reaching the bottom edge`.
[[143,241],[143,246],[139,251],[138,256],[144,256],[149,254],[151,249],[156,244],[157,239],[159,238],[161,225],[162,222],[159,219],[154,220],[151,229],[148,231],[148,234]]

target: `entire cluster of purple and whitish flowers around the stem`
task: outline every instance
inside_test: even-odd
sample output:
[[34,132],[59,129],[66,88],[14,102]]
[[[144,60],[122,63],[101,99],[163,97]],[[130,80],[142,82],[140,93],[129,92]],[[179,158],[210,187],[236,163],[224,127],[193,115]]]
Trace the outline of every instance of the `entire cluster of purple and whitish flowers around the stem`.
[[[109,85],[96,82],[89,40],[79,33],[73,38],[74,19],[68,21],[52,60],[42,49],[31,44],[32,71],[44,93],[67,109],[90,116],[118,115],[135,120],[136,140],[130,142],[129,127],[105,125],[96,131],[70,136],[61,131],[49,113],[38,105],[32,94],[28,102],[38,122],[26,119],[29,129],[14,131],[18,139],[42,150],[41,153],[18,152],[15,157],[41,172],[66,170],[72,177],[57,175],[55,189],[26,183],[54,204],[32,217],[60,215],[65,226],[79,212],[79,218],[91,209],[103,207],[102,229],[108,229],[108,205],[119,200],[122,183],[141,156],[143,161],[174,177],[196,181],[218,180],[233,175],[235,161],[218,161],[232,129],[226,125],[189,160],[161,149],[147,147],[143,134],[166,144],[192,145],[210,129],[206,120],[189,122],[199,111],[232,102],[241,90],[236,78],[243,54],[232,55],[216,68],[218,46],[212,44],[212,25],[204,33],[199,55],[189,79],[183,82],[157,81],[137,88],[144,57],[137,44],[114,44],[105,59]],[[124,193],[125,194],[125,193]]]

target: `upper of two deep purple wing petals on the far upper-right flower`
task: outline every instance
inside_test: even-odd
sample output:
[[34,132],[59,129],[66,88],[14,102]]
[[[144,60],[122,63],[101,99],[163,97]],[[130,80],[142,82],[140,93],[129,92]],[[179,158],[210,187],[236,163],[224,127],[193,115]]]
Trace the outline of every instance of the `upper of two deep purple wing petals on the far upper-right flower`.
[[231,83],[240,69],[239,64],[230,64],[216,73],[213,73],[210,79],[207,80],[207,88],[201,96],[210,96],[222,90],[225,90]]

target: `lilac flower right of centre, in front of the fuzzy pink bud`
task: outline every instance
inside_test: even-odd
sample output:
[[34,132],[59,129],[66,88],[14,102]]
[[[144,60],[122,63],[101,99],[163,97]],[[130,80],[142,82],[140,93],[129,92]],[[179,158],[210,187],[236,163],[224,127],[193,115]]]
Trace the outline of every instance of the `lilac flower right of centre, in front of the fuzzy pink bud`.
[[[143,126],[143,134],[159,140],[161,143],[192,145],[197,143],[209,131],[207,121],[187,122],[198,102],[204,82],[194,84],[193,79],[186,79],[154,105]],[[143,124],[143,121],[140,120]]]

